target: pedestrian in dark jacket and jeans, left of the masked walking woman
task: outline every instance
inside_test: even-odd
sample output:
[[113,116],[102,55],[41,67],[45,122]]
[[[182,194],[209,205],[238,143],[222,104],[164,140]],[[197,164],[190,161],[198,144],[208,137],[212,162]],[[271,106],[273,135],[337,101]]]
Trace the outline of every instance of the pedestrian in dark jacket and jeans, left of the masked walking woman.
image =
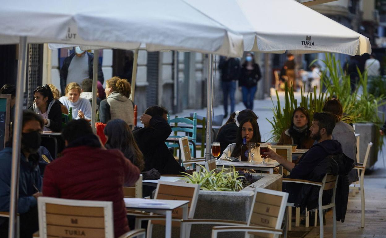
[[230,100],[230,112],[235,111],[236,80],[240,76],[240,59],[220,57],[218,69],[221,70],[221,86],[224,97],[224,118],[228,117],[228,97]]

